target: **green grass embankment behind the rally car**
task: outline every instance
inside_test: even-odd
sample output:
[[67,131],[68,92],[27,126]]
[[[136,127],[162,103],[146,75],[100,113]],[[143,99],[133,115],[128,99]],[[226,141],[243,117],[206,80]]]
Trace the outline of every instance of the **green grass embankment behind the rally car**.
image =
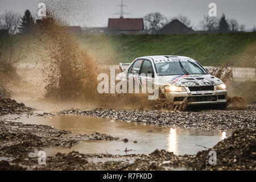
[[[255,66],[255,32],[234,34],[88,35],[76,36],[75,39],[82,48],[86,48],[97,60],[106,64],[130,63],[136,57],[149,55],[181,55],[192,57],[205,66],[224,63],[238,67]],[[32,38],[14,36],[4,41],[0,40],[0,45],[16,42],[19,46],[22,46],[24,42],[32,42]],[[36,43],[36,46],[40,47],[40,42],[39,44]],[[31,50],[28,52],[31,53]],[[35,59],[30,60],[34,61]],[[40,60],[36,61],[40,62]],[[26,62],[26,60],[23,60],[23,62]]]

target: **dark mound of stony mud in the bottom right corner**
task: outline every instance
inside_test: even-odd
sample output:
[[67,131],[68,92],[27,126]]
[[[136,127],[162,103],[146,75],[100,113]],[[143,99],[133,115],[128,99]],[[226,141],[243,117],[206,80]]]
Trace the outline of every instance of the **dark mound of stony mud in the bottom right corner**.
[[[253,170],[256,169],[256,130],[237,130],[212,149],[200,151],[186,162],[193,170]],[[216,151],[217,164],[209,165],[209,151]]]

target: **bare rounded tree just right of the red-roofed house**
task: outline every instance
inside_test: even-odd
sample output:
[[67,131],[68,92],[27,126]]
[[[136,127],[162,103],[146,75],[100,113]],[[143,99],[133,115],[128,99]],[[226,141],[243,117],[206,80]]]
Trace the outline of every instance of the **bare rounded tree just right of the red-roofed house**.
[[158,12],[144,16],[144,27],[151,34],[155,34],[166,23],[167,18]]

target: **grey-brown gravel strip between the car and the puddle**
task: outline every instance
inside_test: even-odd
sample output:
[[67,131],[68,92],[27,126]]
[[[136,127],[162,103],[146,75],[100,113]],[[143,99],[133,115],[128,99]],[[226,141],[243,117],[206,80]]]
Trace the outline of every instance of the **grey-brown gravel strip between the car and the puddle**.
[[246,110],[159,111],[159,110],[67,110],[58,114],[80,114],[157,126],[203,130],[255,129],[256,105]]

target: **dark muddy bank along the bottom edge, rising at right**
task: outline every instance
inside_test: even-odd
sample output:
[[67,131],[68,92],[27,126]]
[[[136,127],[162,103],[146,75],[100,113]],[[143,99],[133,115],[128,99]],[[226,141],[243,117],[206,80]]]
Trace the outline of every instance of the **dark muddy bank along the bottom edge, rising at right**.
[[[237,130],[232,137],[218,142],[209,150],[197,155],[174,155],[165,150],[151,154],[109,155],[57,153],[46,159],[46,165],[39,165],[38,158],[18,157],[2,160],[0,169],[14,170],[255,170],[256,130]],[[209,151],[217,154],[217,164],[210,165]],[[94,159],[94,160],[92,160]]]

